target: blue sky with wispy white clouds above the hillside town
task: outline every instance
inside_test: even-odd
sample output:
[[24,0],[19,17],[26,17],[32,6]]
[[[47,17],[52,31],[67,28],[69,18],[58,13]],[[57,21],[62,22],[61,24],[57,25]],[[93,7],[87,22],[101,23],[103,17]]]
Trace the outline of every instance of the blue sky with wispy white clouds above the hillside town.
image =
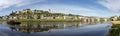
[[110,17],[120,15],[120,0],[0,0],[0,16],[23,9],[51,9],[51,13]]

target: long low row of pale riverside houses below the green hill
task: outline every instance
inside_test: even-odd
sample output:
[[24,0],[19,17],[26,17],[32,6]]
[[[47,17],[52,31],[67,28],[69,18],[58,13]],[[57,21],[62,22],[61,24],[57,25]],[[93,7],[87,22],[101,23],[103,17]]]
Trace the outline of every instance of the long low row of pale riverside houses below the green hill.
[[[32,18],[31,18],[32,17]],[[46,19],[46,20],[81,20],[85,22],[95,22],[95,21],[101,21],[101,18],[99,17],[85,17],[85,16],[44,16],[40,15],[39,17],[37,15],[34,16],[4,16],[2,17],[4,20],[9,20],[9,19]],[[104,21],[108,21],[109,18],[103,18]]]

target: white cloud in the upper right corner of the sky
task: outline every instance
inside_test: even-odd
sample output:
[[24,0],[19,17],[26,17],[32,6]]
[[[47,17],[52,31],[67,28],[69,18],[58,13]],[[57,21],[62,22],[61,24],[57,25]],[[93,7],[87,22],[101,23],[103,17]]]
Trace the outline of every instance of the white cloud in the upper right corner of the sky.
[[120,0],[99,0],[98,3],[114,12],[120,11]]

